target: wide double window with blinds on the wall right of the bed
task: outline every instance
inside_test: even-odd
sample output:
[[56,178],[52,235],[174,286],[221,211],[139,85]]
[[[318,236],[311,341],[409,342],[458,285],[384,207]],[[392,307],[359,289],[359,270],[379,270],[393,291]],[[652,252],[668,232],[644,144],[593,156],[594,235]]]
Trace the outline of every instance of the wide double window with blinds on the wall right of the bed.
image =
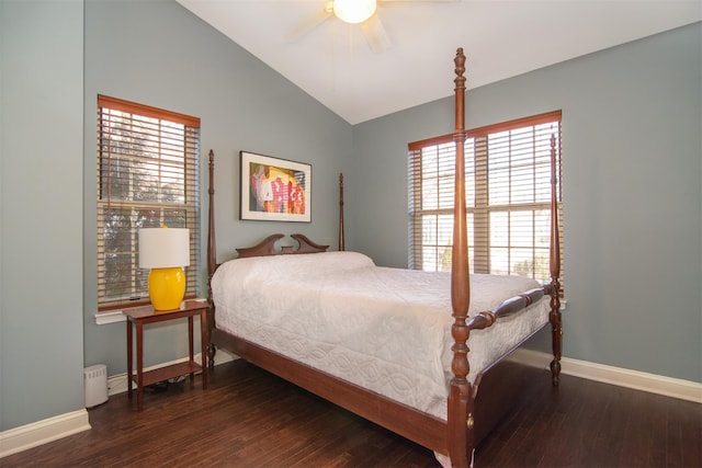
[[[472,272],[550,279],[552,137],[563,225],[561,111],[467,132]],[[409,145],[410,267],[451,270],[454,164],[453,135]]]

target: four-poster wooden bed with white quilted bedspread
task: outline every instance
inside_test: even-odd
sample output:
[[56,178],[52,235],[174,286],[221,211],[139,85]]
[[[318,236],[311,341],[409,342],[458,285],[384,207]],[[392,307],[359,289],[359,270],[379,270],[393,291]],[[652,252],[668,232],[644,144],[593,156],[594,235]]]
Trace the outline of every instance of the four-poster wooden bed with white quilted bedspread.
[[213,366],[216,347],[228,350],[434,450],[444,465],[464,467],[528,384],[510,355],[548,324],[552,379],[558,385],[562,323],[555,179],[551,283],[501,276],[505,285],[494,275],[468,274],[463,49],[454,61],[452,273],[378,267],[346,252],[342,179],[339,251],[327,252],[302,235],[292,236],[296,248],[278,249],[284,236],[273,235],[218,265],[211,151],[208,357]]

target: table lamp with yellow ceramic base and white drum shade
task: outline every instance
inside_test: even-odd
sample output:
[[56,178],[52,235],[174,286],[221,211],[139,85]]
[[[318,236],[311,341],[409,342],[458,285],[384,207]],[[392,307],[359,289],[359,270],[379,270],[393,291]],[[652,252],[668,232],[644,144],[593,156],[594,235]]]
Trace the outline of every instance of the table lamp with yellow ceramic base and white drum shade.
[[139,229],[139,267],[151,269],[149,297],[155,310],[180,308],[190,265],[190,232],[184,228]]

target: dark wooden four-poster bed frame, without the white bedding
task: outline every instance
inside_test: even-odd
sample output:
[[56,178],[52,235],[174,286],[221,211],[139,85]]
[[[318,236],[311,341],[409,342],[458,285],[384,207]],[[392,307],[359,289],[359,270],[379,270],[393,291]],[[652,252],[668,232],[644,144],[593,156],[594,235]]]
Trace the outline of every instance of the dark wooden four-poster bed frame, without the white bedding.
[[[473,465],[474,450],[479,441],[499,422],[511,408],[523,386],[528,385],[529,376],[520,370],[509,355],[500,358],[485,369],[474,384],[467,381],[469,372],[468,346],[466,342],[472,330],[491,327],[500,318],[523,310],[530,304],[551,296],[550,323],[553,340],[553,361],[551,372],[553,385],[558,385],[561,373],[562,350],[562,317],[559,299],[561,252],[558,244],[558,212],[556,190],[555,139],[552,138],[552,208],[551,208],[551,283],[541,288],[532,289],[522,295],[506,300],[492,311],[483,311],[467,317],[471,303],[465,174],[464,174],[464,141],[466,130],[464,125],[465,101],[465,56],[463,49],[456,50],[455,59],[455,132],[456,167],[455,167],[455,203],[454,203],[454,233],[453,233],[453,264],[451,275],[451,300],[454,323],[452,335],[454,339],[452,373],[448,400],[448,421],[442,421],[428,413],[393,401],[378,393],[369,391],[348,381],[332,377],[305,364],[292,361],[281,354],[258,346],[247,340],[230,335],[217,329],[214,316],[214,304],[211,304],[208,316],[208,358],[210,367],[214,366],[216,347],[222,347],[237,354],[244,359],[256,364],[293,384],[303,387],[355,414],[380,424],[406,438],[409,438],[437,454],[448,455],[454,467]],[[339,217],[339,250],[343,250],[343,178],[340,178],[340,217]],[[214,152],[210,151],[210,233],[207,237],[207,267],[212,277],[216,267],[215,226],[214,226]],[[237,249],[239,256],[314,253],[324,252],[327,246],[319,246],[302,235],[293,235],[297,241],[294,247],[282,247],[276,250],[276,242],[283,235],[273,235],[260,244]],[[210,295],[212,298],[212,294]],[[211,299],[212,300],[212,299]],[[534,333],[535,334],[535,333]],[[530,336],[531,338],[531,336]],[[525,339],[521,344],[529,341]],[[519,347],[519,346],[517,346]],[[516,347],[516,349],[517,349]],[[512,350],[514,351],[514,350]],[[544,366],[547,363],[544,363]],[[478,392],[478,388],[482,390]]]

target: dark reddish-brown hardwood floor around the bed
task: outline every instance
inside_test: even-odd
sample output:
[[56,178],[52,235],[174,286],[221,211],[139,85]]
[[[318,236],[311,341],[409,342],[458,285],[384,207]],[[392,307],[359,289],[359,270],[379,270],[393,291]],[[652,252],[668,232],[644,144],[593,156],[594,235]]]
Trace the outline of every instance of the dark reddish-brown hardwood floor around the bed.
[[[542,374],[542,372],[540,372]],[[89,410],[92,430],[0,459],[36,467],[438,467],[433,454],[242,361]],[[541,376],[539,376],[541,377]],[[702,406],[543,372],[477,467],[701,467]]]

